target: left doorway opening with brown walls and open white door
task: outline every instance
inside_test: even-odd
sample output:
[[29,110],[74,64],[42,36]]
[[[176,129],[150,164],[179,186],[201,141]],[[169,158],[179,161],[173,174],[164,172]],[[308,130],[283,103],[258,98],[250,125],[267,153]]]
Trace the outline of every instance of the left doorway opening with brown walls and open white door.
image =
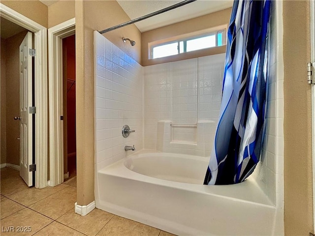
[[1,36],[1,167],[20,172],[27,186],[35,185],[34,166],[34,34],[0,17]]

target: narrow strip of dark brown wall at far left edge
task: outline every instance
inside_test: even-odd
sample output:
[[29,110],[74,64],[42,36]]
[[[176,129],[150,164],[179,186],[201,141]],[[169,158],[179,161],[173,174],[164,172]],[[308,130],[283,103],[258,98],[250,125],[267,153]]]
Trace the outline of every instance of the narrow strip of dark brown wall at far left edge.
[[0,156],[1,164],[6,163],[6,43],[5,40],[1,38],[1,77],[0,77]]

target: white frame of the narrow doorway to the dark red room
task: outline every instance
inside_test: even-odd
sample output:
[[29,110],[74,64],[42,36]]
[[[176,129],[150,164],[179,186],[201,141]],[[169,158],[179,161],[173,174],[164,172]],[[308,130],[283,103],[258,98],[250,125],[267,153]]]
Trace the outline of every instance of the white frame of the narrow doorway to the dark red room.
[[[48,185],[63,183],[63,49],[62,40],[75,33],[75,18],[48,29],[49,139]],[[52,137],[52,136],[51,136]]]

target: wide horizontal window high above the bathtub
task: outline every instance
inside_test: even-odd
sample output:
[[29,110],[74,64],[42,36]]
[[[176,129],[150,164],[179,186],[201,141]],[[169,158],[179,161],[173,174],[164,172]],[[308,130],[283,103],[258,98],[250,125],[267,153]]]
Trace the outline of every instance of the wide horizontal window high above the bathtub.
[[151,59],[225,45],[225,29],[151,46]]

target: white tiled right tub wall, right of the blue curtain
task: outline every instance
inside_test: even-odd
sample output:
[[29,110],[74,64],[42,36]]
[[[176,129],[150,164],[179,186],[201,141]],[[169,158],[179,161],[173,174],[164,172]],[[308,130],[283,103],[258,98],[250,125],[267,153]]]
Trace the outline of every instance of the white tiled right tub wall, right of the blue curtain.
[[[282,1],[271,4],[267,127],[261,161],[253,172],[261,189],[283,217],[284,209],[284,71]],[[284,222],[279,221],[279,222]],[[278,227],[284,227],[278,226]],[[282,232],[282,229],[279,229]]]

